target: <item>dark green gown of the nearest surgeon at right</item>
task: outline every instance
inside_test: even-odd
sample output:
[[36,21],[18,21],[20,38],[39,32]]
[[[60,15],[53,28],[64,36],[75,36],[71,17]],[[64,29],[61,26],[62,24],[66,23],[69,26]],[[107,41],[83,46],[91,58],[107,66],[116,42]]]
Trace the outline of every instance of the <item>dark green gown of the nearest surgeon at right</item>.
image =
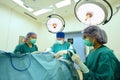
[[83,74],[83,80],[116,80],[115,61],[119,62],[113,51],[104,45],[96,51],[91,50],[85,62],[90,72]]

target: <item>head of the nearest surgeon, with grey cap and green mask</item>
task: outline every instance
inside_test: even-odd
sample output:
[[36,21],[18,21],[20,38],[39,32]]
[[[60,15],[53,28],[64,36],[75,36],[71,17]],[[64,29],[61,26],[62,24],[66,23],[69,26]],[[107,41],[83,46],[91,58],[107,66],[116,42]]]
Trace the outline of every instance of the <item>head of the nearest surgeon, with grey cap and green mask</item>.
[[89,26],[83,30],[83,38],[85,39],[85,44],[93,46],[95,43],[106,44],[107,35],[104,30],[97,26]]

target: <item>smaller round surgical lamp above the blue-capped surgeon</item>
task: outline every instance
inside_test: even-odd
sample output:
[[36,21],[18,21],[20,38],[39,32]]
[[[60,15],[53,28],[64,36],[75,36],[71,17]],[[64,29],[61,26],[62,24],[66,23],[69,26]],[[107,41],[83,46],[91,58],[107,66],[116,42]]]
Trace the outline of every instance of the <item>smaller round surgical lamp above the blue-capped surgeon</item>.
[[60,15],[52,14],[52,15],[49,15],[48,18],[49,19],[46,25],[49,32],[57,33],[57,32],[63,31],[65,27],[65,21]]

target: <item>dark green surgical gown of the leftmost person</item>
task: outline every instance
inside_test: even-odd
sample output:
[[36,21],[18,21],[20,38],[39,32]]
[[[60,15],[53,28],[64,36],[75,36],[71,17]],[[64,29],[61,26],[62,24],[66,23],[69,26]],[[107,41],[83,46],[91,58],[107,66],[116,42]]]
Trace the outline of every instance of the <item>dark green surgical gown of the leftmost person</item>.
[[27,43],[22,43],[16,46],[14,53],[32,53],[34,51],[38,51],[38,47],[36,45],[33,45],[32,47],[29,47]]

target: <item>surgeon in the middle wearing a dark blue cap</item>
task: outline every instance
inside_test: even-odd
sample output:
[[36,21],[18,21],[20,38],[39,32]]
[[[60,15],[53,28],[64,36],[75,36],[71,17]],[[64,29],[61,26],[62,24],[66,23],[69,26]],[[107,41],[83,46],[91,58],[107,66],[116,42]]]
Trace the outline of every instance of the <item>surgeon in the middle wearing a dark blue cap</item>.
[[67,54],[68,52],[74,53],[75,50],[73,46],[65,41],[65,33],[64,32],[57,32],[56,33],[56,43],[53,44],[53,46],[50,48],[49,51],[53,52],[56,54],[56,57],[62,57],[65,59],[70,60],[70,57],[72,54]]

